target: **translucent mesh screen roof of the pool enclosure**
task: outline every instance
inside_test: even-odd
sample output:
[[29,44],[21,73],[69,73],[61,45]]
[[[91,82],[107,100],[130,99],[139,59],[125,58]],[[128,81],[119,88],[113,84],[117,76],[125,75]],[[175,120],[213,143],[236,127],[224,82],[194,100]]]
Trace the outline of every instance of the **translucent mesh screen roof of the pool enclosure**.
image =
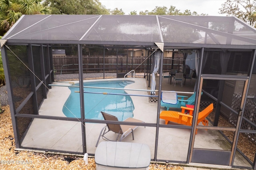
[[232,16],[23,15],[8,43],[255,48],[256,29]]

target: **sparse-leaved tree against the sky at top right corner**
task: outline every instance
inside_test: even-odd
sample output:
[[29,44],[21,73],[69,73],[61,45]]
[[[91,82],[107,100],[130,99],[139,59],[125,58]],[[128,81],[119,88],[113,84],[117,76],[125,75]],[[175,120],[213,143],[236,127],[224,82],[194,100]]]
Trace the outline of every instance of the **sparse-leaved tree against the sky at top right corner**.
[[256,0],[227,0],[219,10],[220,14],[236,16],[256,27]]

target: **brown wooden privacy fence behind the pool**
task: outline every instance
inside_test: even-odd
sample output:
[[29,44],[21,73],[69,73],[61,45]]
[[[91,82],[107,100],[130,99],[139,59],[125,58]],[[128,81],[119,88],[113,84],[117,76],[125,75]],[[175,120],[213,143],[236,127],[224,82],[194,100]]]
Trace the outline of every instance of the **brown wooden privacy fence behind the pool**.
[[[126,56],[83,56],[83,72],[129,72],[136,69],[136,72],[144,72],[148,66],[146,57],[126,57]],[[58,55],[53,56],[53,67],[56,74],[78,73],[78,56]],[[172,60],[164,58],[164,71],[170,71]],[[176,60],[174,64],[182,65],[182,61]],[[177,68],[179,69],[179,68]]]

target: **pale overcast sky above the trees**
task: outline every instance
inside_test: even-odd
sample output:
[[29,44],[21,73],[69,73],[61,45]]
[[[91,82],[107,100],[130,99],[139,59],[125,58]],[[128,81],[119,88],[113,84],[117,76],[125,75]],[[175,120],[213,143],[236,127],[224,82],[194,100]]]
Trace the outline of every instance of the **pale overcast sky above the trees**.
[[[198,14],[208,14],[209,16],[220,16],[221,4],[226,0],[99,0],[106,8],[113,10],[121,9],[128,15],[131,11],[152,11],[156,6],[167,7],[175,6],[180,12],[185,10],[195,11]],[[226,16],[226,15],[224,15]]]

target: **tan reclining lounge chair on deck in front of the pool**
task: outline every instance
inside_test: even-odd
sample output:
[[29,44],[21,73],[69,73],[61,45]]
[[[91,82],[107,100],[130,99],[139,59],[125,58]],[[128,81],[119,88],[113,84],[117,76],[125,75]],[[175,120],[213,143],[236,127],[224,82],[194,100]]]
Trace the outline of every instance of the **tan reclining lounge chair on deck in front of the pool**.
[[[108,113],[104,113],[101,112],[103,118],[105,121],[118,121],[117,117],[110,115]],[[128,117],[127,119],[124,120],[124,122],[137,122],[137,123],[144,123],[144,121],[140,121],[138,119],[134,119],[132,117]],[[100,140],[100,136],[102,136],[102,139],[104,140],[108,140],[108,141],[117,141],[118,137],[120,134],[122,134],[122,136],[119,139],[119,142],[125,138],[126,136],[128,136],[128,134],[132,133],[132,139],[134,140],[134,134],[133,131],[137,128],[138,126],[133,126],[133,125],[116,125],[116,124],[109,124],[107,123],[107,125],[105,127],[102,128],[102,130],[100,131],[100,135],[98,137],[98,141],[96,143],[96,147],[98,146],[98,142]],[[108,128],[108,130],[107,130]],[[108,138],[106,138],[106,136],[104,136],[107,132],[115,132],[117,133],[116,136],[116,140],[110,140]]]

